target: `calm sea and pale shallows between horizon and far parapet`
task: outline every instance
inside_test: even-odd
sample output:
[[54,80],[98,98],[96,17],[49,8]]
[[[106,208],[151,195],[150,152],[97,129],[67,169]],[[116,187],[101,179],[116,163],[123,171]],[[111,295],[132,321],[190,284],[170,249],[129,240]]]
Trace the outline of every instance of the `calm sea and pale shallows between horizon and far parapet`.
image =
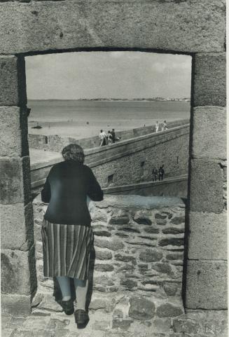
[[[189,102],[30,100],[29,133],[92,137],[190,117]],[[41,129],[33,129],[35,125]]]

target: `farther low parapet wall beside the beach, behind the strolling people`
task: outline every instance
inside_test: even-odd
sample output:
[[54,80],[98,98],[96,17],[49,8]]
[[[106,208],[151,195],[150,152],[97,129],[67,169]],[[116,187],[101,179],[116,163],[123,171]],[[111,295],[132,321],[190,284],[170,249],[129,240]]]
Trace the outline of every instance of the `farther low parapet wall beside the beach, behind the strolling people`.
[[[123,112],[124,114],[124,112]],[[188,124],[190,121],[188,119],[183,119],[179,121],[173,121],[167,123],[168,128],[175,128],[179,125]],[[160,124],[161,130],[162,124]],[[121,137],[122,140],[132,139],[134,137],[139,137],[143,135],[148,135],[149,133],[155,132],[155,125],[146,126],[144,128],[135,128],[125,131],[116,132],[117,137]],[[99,130],[98,130],[99,135]],[[76,139],[74,137],[62,137],[58,135],[28,135],[29,147],[32,149],[46,149],[48,151],[62,151],[63,147],[67,144],[77,143],[83,147],[83,149],[92,149],[100,144],[99,136],[88,137],[83,139]]]

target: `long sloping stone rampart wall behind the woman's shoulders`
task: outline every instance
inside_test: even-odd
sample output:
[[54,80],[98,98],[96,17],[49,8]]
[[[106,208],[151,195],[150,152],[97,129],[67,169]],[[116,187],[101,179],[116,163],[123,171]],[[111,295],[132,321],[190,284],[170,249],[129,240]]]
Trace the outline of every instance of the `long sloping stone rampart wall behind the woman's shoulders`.
[[[153,165],[164,164],[165,177],[179,177],[188,173],[188,144],[189,124],[85,150],[85,163],[102,187],[151,181]],[[39,189],[52,165],[61,160],[59,156],[42,163],[41,158],[40,163],[32,164],[32,188]]]

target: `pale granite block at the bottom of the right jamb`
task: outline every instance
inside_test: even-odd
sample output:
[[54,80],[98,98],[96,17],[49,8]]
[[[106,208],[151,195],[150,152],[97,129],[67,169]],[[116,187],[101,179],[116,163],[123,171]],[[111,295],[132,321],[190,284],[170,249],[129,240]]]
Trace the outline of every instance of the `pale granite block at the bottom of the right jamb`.
[[188,260],[186,308],[227,309],[227,263]]

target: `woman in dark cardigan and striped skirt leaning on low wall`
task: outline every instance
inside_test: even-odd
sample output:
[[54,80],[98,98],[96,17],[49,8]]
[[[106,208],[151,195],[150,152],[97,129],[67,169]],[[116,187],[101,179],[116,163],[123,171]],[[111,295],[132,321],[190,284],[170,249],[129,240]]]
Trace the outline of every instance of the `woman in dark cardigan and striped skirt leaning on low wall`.
[[[90,167],[83,165],[81,146],[69,144],[62,150],[64,161],[54,165],[41,191],[48,202],[43,219],[43,273],[56,277],[62,292],[62,308],[74,313],[78,328],[88,323],[85,312],[88,268],[93,232],[87,197],[103,200],[103,192]],[[70,279],[76,288],[76,311],[71,298]]]

